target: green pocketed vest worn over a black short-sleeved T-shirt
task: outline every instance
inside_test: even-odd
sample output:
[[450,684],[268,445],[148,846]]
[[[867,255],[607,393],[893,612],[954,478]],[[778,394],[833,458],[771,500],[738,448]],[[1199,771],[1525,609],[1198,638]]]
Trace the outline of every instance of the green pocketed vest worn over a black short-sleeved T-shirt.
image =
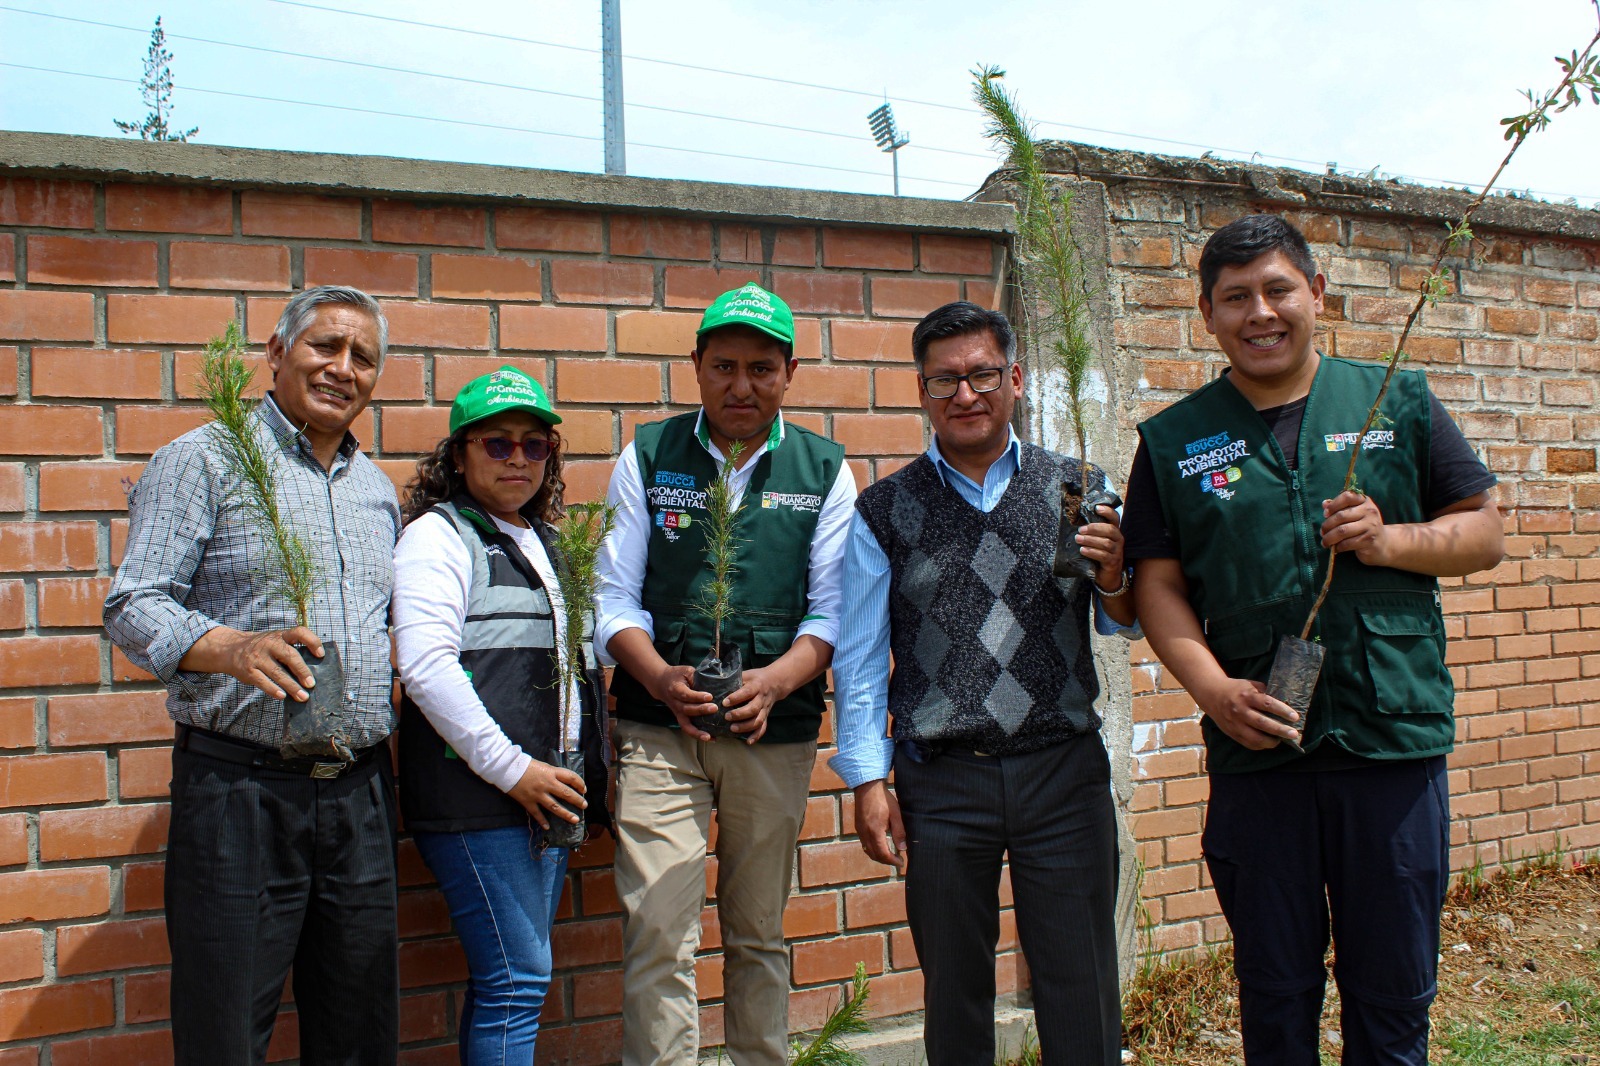
[[[1322,501],[1339,495],[1350,450],[1386,523],[1422,522],[1429,399],[1419,370],[1400,370],[1382,415],[1355,440],[1384,367],[1322,359],[1306,399],[1298,469],[1224,376],[1139,426],[1162,514],[1189,583],[1189,603],[1230,677],[1266,680],[1278,637],[1299,635],[1326,575]],[[1304,747],[1331,741],[1370,759],[1419,759],[1454,741],[1438,581],[1339,557],[1312,639],[1326,648]],[[1238,773],[1296,759],[1250,751],[1203,719],[1208,765]]]

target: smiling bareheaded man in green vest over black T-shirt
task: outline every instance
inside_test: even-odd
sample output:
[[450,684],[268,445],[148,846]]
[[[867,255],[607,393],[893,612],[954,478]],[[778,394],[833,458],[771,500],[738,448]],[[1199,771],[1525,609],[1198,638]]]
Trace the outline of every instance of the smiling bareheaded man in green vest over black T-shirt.
[[[1206,242],[1200,314],[1230,371],[1139,426],[1123,528],[1144,632],[1203,714],[1203,847],[1246,1061],[1318,1061],[1331,920],[1346,1066],[1424,1066],[1454,741],[1437,578],[1496,565],[1501,520],[1419,370],[1360,435],[1384,367],[1315,351],[1325,287],[1280,218]],[[1365,495],[1344,491],[1355,448]],[[1299,722],[1262,682],[1330,552],[1326,659]]]

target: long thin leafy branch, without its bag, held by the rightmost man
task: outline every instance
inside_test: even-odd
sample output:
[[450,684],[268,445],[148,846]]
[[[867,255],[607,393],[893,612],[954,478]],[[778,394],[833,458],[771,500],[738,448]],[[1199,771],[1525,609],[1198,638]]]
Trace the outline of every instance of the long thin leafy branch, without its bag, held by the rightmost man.
[[[1600,0],[1594,0],[1594,5],[1597,14],[1600,14]],[[1506,166],[1510,165],[1512,157],[1515,157],[1517,150],[1523,146],[1523,142],[1526,142],[1528,136],[1539,130],[1546,130],[1550,125],[1550,115],[1576,107],[1586,94],[1594,104],[1600,104],[1600,56],[1595,54],[1597,45],[1600,45],[1600,30],[1595,30],[1595,35],[1589,38],[1582,53],[1573,51],[1571,56],[1555,56],[1555,62],[1562,69],[1562,80],[1555,85],[1555,88],[1542,96],[1533,90],[1525,91],[1523,96],[1528,98],[1533,109],[1520,115],[1501,118],[1501,125],[1506,126],[1506,139],[1510,141],[1510,147],[1506,150],[1504,158],[1501,158],[1499,166],[1494,168],[1494,173],[1490,176],[1482,192],[1478,192],[1478,195],[1467,205],[1467,210],[1462,211],[1461,219],[1450,224],[1448,234],[1440,243],[1438,253],[1435,253],[1432,264],[1429,264],[1427,274],[1419,287],[1416,303],[1411,306],[1411,312],[1405,319],[1405,327],[1400,330],[1400,341],[1395,346],[1395,351],[1389,355],[1389,371],[1384,375],[1382,386],[1378,389],[1378,399],[1373,400],[1373,407],[1366,413],[1366,423],[1355,435],[1357,445],[1350,448],[1350,466],[1344,475],[1346,491],[1358,491],[1355,464],[1362,456],[1360,442],[1366,439],[1366,434],[1373,429],[1373,426],[1386,421],[1379,408],[1382,407],[1384,395],[1389,392],[1389,384],[1394,381],[1395,370],[1406,357],[1405,344],[1411,336],[1411,328],[1422,315],[1424,307],[1437,304],[1451,291],[1450,274],[1443,269],[1445,256],[1458,253],[1470,245],[1474,238],[1470,226],[1472,216],[1480,206],[1483,206],[1483,202],[1494,189],[1501,174],[1506,173]],[[1333,568],[1338,559],[1338,554],[1328,555],[1328,571],[1323,576],[1322,589],[1317,592],[1317,600],[1312,603],[1310,613],[1306,616],[1306,626],[1301,629],[1301,640],[1306,640],[1310,635],[1312,624],[1317,621],[1317,613],[1322,611],[1322,605],[1328,599],[1328,589],[1333,587]]]

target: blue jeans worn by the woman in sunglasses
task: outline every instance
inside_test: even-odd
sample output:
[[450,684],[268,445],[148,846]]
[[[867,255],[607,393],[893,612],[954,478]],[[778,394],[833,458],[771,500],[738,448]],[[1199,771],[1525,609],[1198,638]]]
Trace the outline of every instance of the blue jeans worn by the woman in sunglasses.
[[566,848],[536,847],[526,826],[414,837],[467,952],[462,1066],[528,1066],[550,988]]

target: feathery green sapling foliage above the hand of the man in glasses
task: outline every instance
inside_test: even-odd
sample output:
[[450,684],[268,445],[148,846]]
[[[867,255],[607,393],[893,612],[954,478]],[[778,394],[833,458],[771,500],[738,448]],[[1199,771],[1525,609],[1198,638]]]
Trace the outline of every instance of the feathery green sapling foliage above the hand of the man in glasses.
[[1043,370],[1056,370],[1066,384],[1067,423],[1078,458],[1088,458],[1088,384],[1096,349],[1090,338],[1090,288],[1072,232],[1072,190],[1050,179],[1034,141],[1034,125],[994,66],[973,70],[973,99],[987,115],[984,134],[1005,152],[1006,166],[1022,195],[1018,208],[1016,256],[1029,282],[1022,301],[1026,335],[1038,346]]

